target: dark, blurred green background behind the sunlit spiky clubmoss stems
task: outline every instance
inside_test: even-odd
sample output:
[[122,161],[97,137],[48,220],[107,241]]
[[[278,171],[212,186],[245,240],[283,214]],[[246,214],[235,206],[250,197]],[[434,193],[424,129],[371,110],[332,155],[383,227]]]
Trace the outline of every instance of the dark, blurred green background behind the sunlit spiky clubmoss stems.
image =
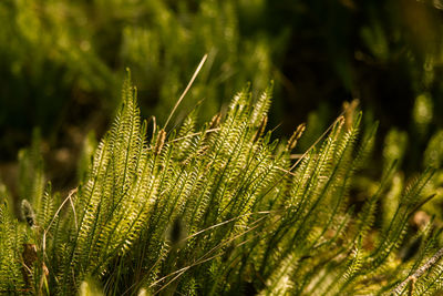
[[359,99],[365,121],[380,121],[374,166],[443,164],[437,0],[3,0],[0,22],[6,183],[39,126],[49,178],[72,185],[87,132],[101,136],[114,114],[126,67],[143,116],[162,124],[205,53],[175,122],[198,102],[209,120],[247,82],[259,93],[274,80],[269,129],[281,123],[275,134],[290,136],[307,122],[300,151]]

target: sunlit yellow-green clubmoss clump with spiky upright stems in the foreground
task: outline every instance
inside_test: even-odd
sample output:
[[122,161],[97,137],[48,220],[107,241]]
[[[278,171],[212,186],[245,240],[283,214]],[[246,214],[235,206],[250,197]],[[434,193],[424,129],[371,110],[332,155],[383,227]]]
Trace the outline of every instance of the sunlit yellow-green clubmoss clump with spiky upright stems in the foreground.
[[141,119],[128,75],[109,132],[96,147],[87,137],[80,184],[68,196],[45,184],[35,135],[20,153],[20,222],[1,190],[0,292],[441,290],[440,223],[426,216],[415,231],[410,223],[434,196],[435,170],[399,183],[392,161],[358,201],[377,124],[361,132],[361,113],[348,108],[298,155],[305,125],[288,142],[274,140],[266,126],[271,92],[269,85],[253,98],[246,88],[203,126],[194,110],[169,130]]

